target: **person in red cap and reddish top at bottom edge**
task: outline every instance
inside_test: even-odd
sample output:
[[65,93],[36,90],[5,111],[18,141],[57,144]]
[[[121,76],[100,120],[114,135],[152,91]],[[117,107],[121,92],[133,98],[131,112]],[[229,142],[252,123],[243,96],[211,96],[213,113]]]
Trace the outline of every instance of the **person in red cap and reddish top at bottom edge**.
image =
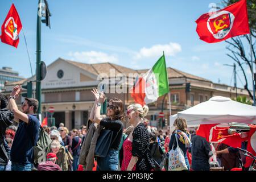
[[38,165],[38,171],[62,171],[58,164],[55,164],[57,156],[51,152],[46,156],[47,161]]

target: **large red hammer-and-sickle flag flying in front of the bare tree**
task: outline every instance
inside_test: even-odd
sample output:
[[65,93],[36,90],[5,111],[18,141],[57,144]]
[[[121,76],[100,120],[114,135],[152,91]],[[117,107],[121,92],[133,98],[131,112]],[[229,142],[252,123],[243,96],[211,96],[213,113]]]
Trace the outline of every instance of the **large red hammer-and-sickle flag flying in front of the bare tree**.
[[197,34],[207,43],[250,34],[246,0],[238,1],[214,14],[205,13],[196,23]]

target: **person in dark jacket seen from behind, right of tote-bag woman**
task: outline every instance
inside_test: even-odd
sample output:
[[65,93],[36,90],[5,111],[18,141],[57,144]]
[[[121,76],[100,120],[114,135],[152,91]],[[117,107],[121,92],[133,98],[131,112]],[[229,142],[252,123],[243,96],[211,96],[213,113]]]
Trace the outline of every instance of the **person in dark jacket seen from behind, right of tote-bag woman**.
[[192,139],[192,169],[195,171],[209,171],[209,158],[212,156],[210,144],[203,137],[195,135]]

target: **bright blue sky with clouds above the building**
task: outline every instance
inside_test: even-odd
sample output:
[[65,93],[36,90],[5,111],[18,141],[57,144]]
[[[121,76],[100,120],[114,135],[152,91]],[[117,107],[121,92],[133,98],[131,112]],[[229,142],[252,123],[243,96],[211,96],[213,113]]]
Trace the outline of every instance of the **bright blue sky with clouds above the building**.
[[[37,0],[0,1],[0,24],[14,3],[25,30],[32,70],[36,68]],[[225,42],[208,44],[199,39],[195,20],[220,0],[48,0],[51,29],[42,24],[42,60],[58,57],[82,63],[110,62],[133,69],[151,68],[165,51],[168,67],[233,85],[233,64]],[[12,67],[30,77],[21,32],[17,49],[0,43],[0,67]],[[249,71],[247,71],[249,73]],[[244,84],[242,72],[238,74]],[[251,77],[248,77],[251,85]],[[239,78],[237,84],[243,87]]]

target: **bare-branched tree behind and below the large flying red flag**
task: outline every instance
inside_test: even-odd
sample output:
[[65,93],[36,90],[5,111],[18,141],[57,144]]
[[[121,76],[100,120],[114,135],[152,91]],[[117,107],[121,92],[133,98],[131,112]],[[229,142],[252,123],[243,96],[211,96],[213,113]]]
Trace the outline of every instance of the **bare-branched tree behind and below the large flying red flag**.
[[[222,1],[222,5],[228,6],[233,3],[236,3],[238,0],[224,0]],[[247,10],[249,16],[249,25],[251,36],[253,37],[253,63],[256,64],[256,48],[255,48],[255,38],[256,38],[256,0],[247,0]],[[231,38],[225,41],[229,45],[226,49],[229,50],[230,53],[227,55],[232,58],[241,68],[243,77],[245,78],[244,88],[247,90],[251,99],[253,99],[253,94],[250,92],[248,88],[248,81],[246,77],[246,67],[249,67],[251,70],[251,55],[249,51],[245,50],[245,46],[250,46],[250,37],[249,35],[237,36],[236,38]],[[255,65],[254,65],[255,68]],[[253,74],[253,73],[251,73]],[[249,78],[250,79],[250,78]]]

